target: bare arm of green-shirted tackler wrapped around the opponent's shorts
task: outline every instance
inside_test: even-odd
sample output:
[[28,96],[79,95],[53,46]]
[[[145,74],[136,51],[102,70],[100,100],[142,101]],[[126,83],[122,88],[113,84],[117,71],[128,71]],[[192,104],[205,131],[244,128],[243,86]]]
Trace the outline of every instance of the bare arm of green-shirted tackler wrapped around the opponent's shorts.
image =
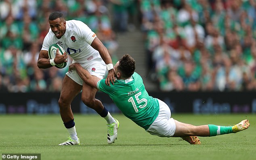
[[70,69],[75,69],[76,72],[78,73],[78,75],[81,77],[81,79],[87,83],[88,85],[97,88],[97,83],[98,81],[100,81],[101,79],[99,77],[96,76],[92,76],[90,75],[90,73],[84,69],[79,63],[73,63],[69,65],[69,70]]

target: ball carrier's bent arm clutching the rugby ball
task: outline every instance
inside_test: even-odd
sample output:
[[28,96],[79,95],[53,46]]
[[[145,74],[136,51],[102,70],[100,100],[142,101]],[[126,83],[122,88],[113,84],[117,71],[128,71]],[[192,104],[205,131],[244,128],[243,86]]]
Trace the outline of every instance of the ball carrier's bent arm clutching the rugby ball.
[[67,57],[66,52],[63,55],[61,55],[61,54],[59,54],[59,48],[57,48],[55,58],[50,60],[49,56],[48,56],[48,51],[41,50],[39,52],[37,66],[40,69],[47,69],[47,68],[50,68],[51,66],[53,66],[51,61],[53,61],[55,64],[60,64],[60,63],[63,63],[66,61],[66,57]]

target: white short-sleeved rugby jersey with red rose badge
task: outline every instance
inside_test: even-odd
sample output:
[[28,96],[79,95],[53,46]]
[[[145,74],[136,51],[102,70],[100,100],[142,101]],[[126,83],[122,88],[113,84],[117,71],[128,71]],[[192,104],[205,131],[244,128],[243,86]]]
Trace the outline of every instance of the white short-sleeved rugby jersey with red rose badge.
[[90,46],[96,34],[82,21],[66,21],[66,31],[58,39],[49,29],[41,50],[49,49],[51,44],[59,44],[65,52],[73,58],[73,63],[84,64],[90,60],[101,57],[99,52]]

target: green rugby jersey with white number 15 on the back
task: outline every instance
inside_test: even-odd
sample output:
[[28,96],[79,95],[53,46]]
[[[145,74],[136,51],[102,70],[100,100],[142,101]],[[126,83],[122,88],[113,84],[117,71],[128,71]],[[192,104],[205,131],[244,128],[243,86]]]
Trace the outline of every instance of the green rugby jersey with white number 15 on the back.
[[117,79],[110,87],[105,84],[105,79],[101,79],[97,88],[108,94],[126,117],[145,130],[158,116],[159,103],[149,96],[138,73],[134,72],[131,79]]

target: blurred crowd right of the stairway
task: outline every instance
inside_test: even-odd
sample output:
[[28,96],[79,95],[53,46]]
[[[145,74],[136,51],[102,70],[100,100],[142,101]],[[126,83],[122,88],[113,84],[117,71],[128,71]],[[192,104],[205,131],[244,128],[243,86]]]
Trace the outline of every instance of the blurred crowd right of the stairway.
[[255,0],[141,0],[140,9],[159,89],[256,90]]

